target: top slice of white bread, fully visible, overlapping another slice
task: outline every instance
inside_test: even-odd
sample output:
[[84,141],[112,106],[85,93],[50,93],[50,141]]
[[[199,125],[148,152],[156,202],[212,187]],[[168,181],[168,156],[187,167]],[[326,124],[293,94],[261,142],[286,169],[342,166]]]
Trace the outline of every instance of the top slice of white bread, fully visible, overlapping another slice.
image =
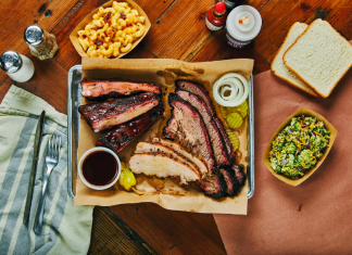
[[284,54],[285,65],[322,98],[352,66],[352,46],[329,23],[313,22]]

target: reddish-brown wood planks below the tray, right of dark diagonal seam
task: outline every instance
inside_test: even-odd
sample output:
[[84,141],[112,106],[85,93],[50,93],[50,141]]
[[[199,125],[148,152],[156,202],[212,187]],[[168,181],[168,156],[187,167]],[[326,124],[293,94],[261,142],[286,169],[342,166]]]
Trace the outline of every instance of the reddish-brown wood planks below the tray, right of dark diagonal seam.
[[166,211],[152,203],[111,209],[160,254],[226,254],[210,214]]

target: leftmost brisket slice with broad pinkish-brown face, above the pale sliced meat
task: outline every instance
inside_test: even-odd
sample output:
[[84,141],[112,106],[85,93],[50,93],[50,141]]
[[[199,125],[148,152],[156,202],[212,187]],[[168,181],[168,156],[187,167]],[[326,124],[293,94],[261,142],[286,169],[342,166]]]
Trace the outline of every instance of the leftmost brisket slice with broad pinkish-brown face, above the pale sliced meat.
[[163,136],[199,156],[205,162],[208,170],[215,169],[212,143],[198,110],[175,94],[169,94],[168,104],[172,116],[163,128]]

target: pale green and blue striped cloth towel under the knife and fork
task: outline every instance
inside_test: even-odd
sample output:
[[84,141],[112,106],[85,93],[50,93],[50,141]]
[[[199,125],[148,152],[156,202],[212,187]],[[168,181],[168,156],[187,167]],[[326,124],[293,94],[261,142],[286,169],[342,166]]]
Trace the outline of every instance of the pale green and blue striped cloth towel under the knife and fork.
[[[46,120],[39,151],[28,227],[23,214],[41,111]],[[51,135],[62,139],[45,202],[45,224],[36,235],[35,213],[42,186],[45,156]],[[0,254],[87,254],[92,206],[74,206],[67,193],[67,116],[38,97],[12,86],[0,104]]]

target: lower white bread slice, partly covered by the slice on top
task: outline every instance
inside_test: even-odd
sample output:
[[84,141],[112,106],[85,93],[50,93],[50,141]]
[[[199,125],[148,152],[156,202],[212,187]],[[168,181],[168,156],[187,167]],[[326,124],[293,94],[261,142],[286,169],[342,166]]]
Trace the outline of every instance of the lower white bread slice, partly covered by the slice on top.
[[287,49],[292,46],[292,43],[299,38],[302,33],[307,28],[307,25],[304,23],[294,23],[289,33],[287,34],[285,41],[280,49],[277,51],[274,61],[272,63],[272,71],[274,75],[277,77],[286,80],[293,87],[303,90],[304,92],[307,92],[312,94],[313,97],[318,98],[317,95],[310,87],[307,87],[302,80],[300,80],[291,71],[289,71],[286,65],[284,64],[282,56]]

